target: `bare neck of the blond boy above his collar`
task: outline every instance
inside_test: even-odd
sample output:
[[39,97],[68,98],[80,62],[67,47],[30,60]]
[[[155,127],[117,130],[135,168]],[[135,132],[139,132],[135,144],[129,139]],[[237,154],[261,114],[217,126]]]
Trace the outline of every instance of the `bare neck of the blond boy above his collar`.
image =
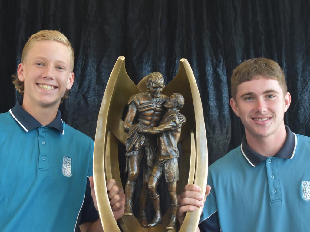
[[51,123],[57,115],[59,104],[44,106],[29,104],[29,101],[23,100],[22,108],[26,110],[33,118],[37,119],[42,126],[46,126]]

